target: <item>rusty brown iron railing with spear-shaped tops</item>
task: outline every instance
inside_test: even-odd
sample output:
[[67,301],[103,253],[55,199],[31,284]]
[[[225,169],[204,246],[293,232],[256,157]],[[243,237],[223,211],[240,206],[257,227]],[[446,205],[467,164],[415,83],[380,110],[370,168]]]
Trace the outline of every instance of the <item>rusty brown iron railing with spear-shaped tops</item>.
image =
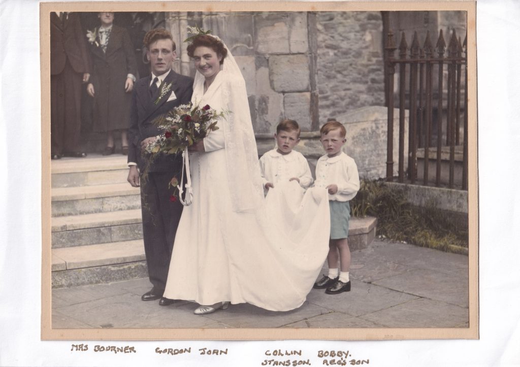
[[[399,50],[396,58],[394,53]],[[450,188],[455,185],[456,163],[462,167],[462,177],[457,179],[457,188],[467,190],[467,53],[466,40],[461,43],[453,30],[446,51],[443,31],[435,48],[430,33],[426,33],[423,47],[420,47],[417,32],[408,47],[402,32],[399,47],[394,43],[394,35],[388,33],[385,47],[386,93],[388,103],[388,146],[386,179],[394,178],[394,106],[399,100],[399,158],[398,182],[422,181],[422,185]],[[436,55],[435,55],[436,54]],[[398,68],[398,90],[394,92],[396,66]],[[435,75],[437,74],[437,75]],[[435,81],[434,77],[437,78]],[[446,81],[446,85],[445,85]],[[409,83],[407,85],[407,82]],[[397,96],[396,96],[397,95]],[[463,95],[463,96],[462,96]],[[405,171],[405,110],[409,109],[408,126],[408,167]],[[435,115],[434,115],[435,112]],[[461,117],[461,115],[463,115]],[[461,124],[462,132],[461,132]],[[462,136],[461,136],[462,135]],[[449,152],[445,153],[443,151]],[[456,162],[456,151],[462,152],[462,162]],[[418,177],[418,152],[423,155],[422,177]],[[432,154],[433,153],[433,154]],[[458,154],[460,155],[460,154]],[[431,162],[432,161],[432,162]],[[444,163],[443,163],[444,161]],[[435,164],[435,167],[430,165]],[[441,180],[441,167],[447,167],[448,178]],[[435,169],[435,177],[430,169]],[[460,169],[459,169],[460,171]],[[422,180],[421,180],[422,179]]]

